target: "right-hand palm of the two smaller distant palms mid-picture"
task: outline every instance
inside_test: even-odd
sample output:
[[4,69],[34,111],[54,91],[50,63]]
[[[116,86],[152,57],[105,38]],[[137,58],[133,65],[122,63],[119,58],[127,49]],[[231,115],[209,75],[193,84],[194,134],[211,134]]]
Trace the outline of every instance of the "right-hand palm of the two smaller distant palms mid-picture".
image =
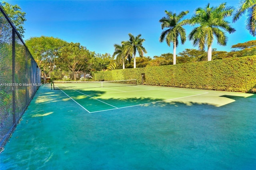
[[143,57],[143,53],[147,53],[145,47],[142,46],[142,43],[145,39],[141,39],[141,34],[134,37],[131,33],[129,35],[129,41],[122,42],[124,45],[124,53],[126,55],[133,55],[134,58],[134,68],[136,68],[136,51],[138,51],[140,57]]

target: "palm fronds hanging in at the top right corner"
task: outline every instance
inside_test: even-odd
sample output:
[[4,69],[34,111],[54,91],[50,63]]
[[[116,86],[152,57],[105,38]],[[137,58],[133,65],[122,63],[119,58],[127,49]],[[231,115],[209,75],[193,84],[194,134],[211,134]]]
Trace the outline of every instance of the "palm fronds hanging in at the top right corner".
[[240,6],[233,17],[233,23],[236,22],[247,11],[246,29],[256,36],[256,0],[241,0]]

